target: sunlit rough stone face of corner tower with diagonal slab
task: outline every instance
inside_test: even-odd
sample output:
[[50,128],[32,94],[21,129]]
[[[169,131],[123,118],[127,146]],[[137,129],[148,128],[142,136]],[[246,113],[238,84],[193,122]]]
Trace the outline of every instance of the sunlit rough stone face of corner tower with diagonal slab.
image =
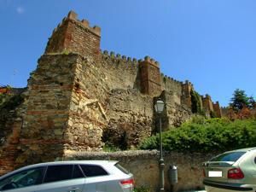
[[[70,150],[99,150],[102,132],[108,125],[108,84],[94,61],[79,56],[74,74],[67,135]],[[66,152],[65,152],[66,153]]]

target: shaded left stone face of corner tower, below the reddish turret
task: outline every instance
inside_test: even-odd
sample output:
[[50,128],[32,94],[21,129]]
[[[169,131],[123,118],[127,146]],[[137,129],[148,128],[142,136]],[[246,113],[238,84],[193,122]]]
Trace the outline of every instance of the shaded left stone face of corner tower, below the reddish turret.
[[43,55],[28,83],[27,111],[16,166],[53,160],[63,154],[74,69],[78,55]]

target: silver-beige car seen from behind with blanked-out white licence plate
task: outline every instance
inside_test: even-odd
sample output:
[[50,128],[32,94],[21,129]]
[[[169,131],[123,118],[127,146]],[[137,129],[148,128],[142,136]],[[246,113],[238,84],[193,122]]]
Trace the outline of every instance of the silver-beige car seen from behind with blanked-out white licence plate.
[[207,192],[256,191],[256,148],[225,152],[203,164]]

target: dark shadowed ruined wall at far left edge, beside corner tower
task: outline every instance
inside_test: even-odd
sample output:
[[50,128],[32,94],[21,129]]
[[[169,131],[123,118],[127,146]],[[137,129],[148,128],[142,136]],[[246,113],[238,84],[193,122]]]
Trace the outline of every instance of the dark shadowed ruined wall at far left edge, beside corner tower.
[[0,108],[0,176],[15,168],[15,160],[20,148],[22,119],[27,107],[24,91],[11,93],[12,100],[5,102]]

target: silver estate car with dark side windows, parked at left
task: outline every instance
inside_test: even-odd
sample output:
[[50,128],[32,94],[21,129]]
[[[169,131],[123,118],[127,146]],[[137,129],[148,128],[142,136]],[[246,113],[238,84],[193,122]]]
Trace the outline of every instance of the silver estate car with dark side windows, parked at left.
[[133,175],[117,161],[78,160],[36,164],[0,177],[8,192],[131,192]]

